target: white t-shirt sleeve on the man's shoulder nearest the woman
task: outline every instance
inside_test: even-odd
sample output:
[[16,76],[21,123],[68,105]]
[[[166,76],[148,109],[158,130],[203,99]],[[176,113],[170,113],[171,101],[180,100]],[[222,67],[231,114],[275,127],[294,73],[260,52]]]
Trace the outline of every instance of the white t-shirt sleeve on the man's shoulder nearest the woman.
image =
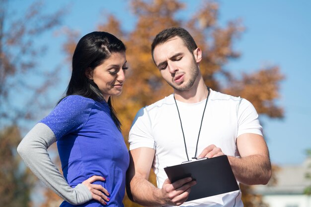
[[129,134],[129,143],[130,150],[141,147],[156,149],[150,116],[145,107],[141,108],[135,116]]

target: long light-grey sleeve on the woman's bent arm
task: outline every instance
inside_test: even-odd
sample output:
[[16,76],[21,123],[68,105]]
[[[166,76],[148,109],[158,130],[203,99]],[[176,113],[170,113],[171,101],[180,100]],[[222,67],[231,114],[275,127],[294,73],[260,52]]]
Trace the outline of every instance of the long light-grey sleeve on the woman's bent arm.
[[36,124],[17,147],[31,171],[62,199],[73,205],[84,204],[92,199],[91,192],[83,184],[69,186],[64,176],[52,162],[47,149],[56,142],[53,131],[45,124]]

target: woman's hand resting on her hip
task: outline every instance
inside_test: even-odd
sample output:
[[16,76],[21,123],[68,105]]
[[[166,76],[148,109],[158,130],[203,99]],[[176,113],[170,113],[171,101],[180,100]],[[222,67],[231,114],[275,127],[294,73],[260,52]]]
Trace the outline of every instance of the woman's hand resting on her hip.
[[84,180],[82,182],[82,184],[88,188],[88,190],[91,192],[92,198],[94,200],[100,202],[103,205],[106,205],[107,204],[106,202],[110,201],[110,199],[107,197],[110,194],[101,185],[92,184],[93,182],[99,181],[99,180],[105,181],[106,179],[101,177],[101,176],[93,175],[92,177],[88,178],[87,180]]

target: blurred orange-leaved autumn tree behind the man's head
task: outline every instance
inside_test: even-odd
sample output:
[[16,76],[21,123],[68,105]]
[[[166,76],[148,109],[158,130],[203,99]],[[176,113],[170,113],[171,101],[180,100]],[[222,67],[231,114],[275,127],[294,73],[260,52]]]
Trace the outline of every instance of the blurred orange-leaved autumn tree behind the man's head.
[[[169,27],[184,27],[192,34],[203,59],[201,73],[206,85],[213,90],[240,96],[252,102],[259,114],[270,118],[282,118],[283,109],[276,104],[280,97],[279,85],[284,79],[278,66],[258,68],[253,73],[236,75],[226,69],[226,64],[240,56],[233,43],[241,36],[244,27],[240,20],[232,20],[222,27],[218,23],[219,4],[215,1],[201,1],[200,9],[190,19],[176,19],[176,13],[186,6],[178,0],[131,0],[131,9],[137,17],[137,24],[130,32],[121,29],[122,24],[113,15],[106,14],[106,21],[97,29],[108,31],[123,40],[127,46],[127,60],[130,69],[120,97],[115,98],[114,107],[123,124],[125,142],[136,112],[172,93],[161,78],[151,57],[151,43],[158,32]],[[69,38],[71,44],[76,44]],[[66,44],[64,49],[72,55],[74,45]],[[222,77],[221,81],[218,77]],[[151,176],[155,183],[155,176]],[[241,185],[245,207],[263,204],[260,196],[251,194],[251,186]],[[138,206],[126,197],[127,207]]]

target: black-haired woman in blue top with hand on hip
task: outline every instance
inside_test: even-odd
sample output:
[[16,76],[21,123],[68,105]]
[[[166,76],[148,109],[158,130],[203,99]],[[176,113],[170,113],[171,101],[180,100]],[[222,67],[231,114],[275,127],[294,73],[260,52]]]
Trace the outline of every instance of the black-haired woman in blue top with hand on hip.
[[[24,137],[17,151],[61,207],[122,207],[129,155],[111,96],[122,93],[125,46],[106,32],[80,39],[66,97]],[[47,149],[57,141],[64,176]]]

